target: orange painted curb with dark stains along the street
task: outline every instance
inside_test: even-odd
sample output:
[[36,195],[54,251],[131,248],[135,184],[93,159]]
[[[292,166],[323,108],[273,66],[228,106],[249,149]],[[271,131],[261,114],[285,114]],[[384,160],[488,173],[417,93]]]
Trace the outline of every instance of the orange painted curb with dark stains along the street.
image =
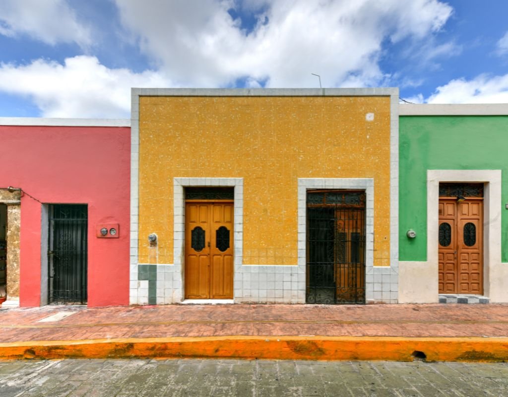
[[508,361],[508,338],[204,337],[0,343],[0,359],[245,358]]

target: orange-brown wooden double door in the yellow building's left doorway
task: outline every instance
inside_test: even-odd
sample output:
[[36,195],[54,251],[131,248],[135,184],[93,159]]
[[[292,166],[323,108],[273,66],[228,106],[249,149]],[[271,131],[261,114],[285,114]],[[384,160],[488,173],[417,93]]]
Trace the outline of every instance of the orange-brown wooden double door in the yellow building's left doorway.
[[232,201],[185,203],[185,298],[233,299]]

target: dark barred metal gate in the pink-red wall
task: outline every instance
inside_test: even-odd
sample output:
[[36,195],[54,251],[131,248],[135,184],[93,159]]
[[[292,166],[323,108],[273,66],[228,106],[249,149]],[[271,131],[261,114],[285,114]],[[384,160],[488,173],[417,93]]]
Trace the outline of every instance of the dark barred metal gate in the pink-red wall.
[[49,304],[86,303],[87,229],[86,205],[49,206]]

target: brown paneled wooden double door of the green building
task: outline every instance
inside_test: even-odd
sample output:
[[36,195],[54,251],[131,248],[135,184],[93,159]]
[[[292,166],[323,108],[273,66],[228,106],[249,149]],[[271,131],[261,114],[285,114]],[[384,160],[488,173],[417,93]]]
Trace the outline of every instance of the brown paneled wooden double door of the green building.
[[440,294],[483,294],[483,199],[439,198]]

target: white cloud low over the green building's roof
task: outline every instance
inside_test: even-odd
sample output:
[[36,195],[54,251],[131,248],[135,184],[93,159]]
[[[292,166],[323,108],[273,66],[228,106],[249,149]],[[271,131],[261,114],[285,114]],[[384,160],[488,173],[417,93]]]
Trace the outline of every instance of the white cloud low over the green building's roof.
[[472,80],[455,79],[436,88],[434,94],[404,98],[410,102],[427,103],[508,103],[508,74],[480,75]]

